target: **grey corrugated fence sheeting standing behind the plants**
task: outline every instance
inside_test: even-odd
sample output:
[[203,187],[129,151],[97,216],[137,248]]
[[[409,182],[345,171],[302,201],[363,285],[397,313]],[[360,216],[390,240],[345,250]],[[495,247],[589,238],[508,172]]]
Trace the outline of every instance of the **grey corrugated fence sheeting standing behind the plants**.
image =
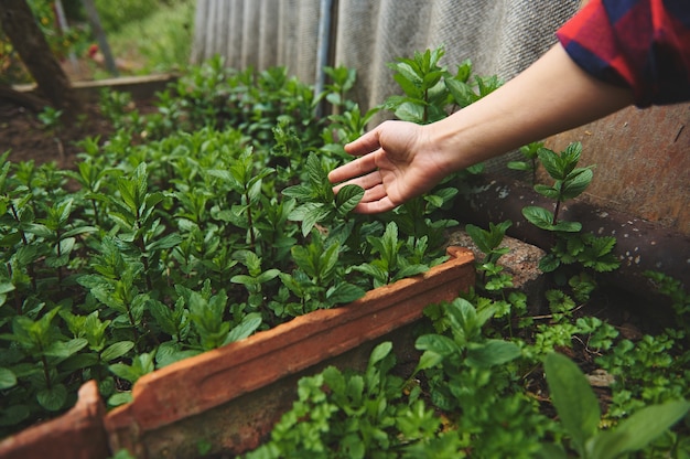
[[[444,45],[452,67],[472,58],[479,74],[513,77],[556,42],[580,0],[333,0],[330,65],[356,68],[353,96],[369,108],[397,90],[387,63]],[[314,83],[319,0],[197,0],[192,62],[284,65]]]

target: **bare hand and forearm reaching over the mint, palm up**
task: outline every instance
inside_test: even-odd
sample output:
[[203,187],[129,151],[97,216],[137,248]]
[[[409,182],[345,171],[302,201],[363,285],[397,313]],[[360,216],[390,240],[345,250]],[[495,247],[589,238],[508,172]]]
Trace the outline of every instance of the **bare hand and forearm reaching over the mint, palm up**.
[[520,75],[478,102],[431,125],[385,121],[345,151],[360,158],[328,175],[365,189],[356,212],[389,211],[431,190],[445,175],[634,102],[630,88],[586,74],[554,45]]

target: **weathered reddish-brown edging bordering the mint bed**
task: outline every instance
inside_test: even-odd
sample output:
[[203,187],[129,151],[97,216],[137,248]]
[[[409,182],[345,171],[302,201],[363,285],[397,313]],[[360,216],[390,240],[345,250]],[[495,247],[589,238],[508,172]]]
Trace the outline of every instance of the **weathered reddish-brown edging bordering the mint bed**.
[[396,342],[400,360],[413,364],[410,328],[424,307],[451,301],[474,284],[472,254],[461,247],[449,254],[449,261],[424,275],[371,290],[351,305],[311,312],[153,372],[134,385],[131,403],[108,414],[89,382],[71,412],[6,439],[0,455],[40,459],[58,447],[65,457],[106,458],[104,451],[125,448],[139,458],[190,458],[200,442],[216,453],[254,449],[292,405],[301,377],[327,365],[363,370],[382,340]]

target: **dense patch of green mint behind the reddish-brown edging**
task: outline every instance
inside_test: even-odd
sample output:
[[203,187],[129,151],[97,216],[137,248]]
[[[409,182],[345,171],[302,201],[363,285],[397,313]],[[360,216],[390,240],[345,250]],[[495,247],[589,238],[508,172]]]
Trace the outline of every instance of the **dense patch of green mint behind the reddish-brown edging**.
[[[285,68],[237,72],[212,60],[159,93],[158,113],[101,95],[116,131],[84,139],[73,171],[2,156],[0,333],[60,309],[55,340],[84,343],[43,361],[2,340],[3,434],[45,417],[35,395],[48,383],[65,387],[51,404],[58,410],[87,378],[115,406],[149,371],[371,288],[352,267],[388,221],[354,215],[363,190],[334,195],[327,181],[341,143],[368,119],[346,99],[355,76],[334,68],[315,95]],[[337,115],[316,119],[325,98]],[[432,201],[425,209],[448,205]],[[439,237],[432,245],[420,228],[398,241],[402,273],[440,263]]]

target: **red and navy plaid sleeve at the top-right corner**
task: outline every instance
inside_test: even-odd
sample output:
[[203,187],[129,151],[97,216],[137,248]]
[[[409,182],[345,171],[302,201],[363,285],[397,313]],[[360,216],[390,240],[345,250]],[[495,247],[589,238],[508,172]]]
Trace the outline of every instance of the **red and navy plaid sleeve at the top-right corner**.
[[690,0],[591,0],[557,38],[585,72],[636,104],[690,100]]

